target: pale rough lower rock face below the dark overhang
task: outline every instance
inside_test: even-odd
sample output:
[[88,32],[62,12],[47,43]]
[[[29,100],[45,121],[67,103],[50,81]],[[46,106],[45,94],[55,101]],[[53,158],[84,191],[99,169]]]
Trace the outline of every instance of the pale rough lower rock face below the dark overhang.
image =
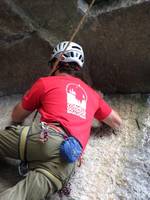
[[[9,123],[12,107],[19,99],[0,98],[1,128]],[[118,95],[105,99],[120,113],[123,126],[112,132],[108,127],[96,128],[94,122],[82,165],[71,179],[70,196],[60,198],[56,194],[48,200],[150,199],[150,97]],[[0,170],[0,191],[19,181],[15,161],[1,160]]]

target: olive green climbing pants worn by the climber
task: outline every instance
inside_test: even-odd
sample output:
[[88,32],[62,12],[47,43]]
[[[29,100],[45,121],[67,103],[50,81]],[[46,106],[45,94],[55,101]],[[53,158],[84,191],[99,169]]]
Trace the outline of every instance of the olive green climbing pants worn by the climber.
[[[20,159],[20,133],[23,127],[8,127],[0,131],[0,157]],[[0,193],[0,200],[44,200],[60,190],[75,168],[62,160],[59,146],[63,136],[50,130],[47,141],[40,140],[41,127],[34,125],[27,136],[24,148],[28,161],[27,176],[12,188]]]

